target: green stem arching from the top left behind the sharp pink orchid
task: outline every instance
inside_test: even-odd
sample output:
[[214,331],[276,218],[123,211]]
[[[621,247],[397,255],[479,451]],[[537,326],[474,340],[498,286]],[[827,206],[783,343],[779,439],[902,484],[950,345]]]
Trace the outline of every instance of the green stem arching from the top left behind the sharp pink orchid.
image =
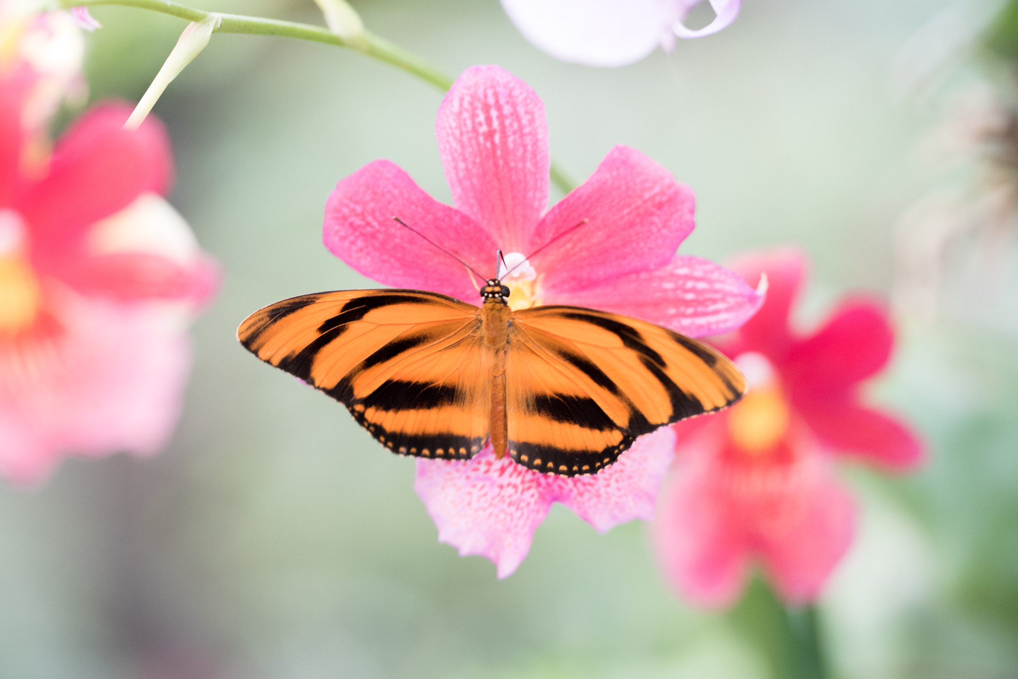
[[[426,82],[434,84],[439,90],[445,92],[452,87],[453,78],[449,77],[438,68],[416,56],[411,52],[398,47],[369,31],[364,31],[360,40],[344,40],[328,29],[324,29],[310,23],[299,23],[296,21],[281,21],[279,19],[264,18],[261,16],[243,16],[240,14],[224,14],[220,12],[207,12],[202,9],[187,7],[171,0],[59,0],[64,8],[97,5],[121,5],[125,7],[138,7],[149,9],[170,16],[176,16],[187,21],[201,21],[210,14],[216,14],[220,18],[220,23],[214,33],[237,33],[252,36],[279,36],[282,38],[294,38],[314,43],[323,43],[335,47],[345,47],[347,49],[360,52],[373,59],[385,62],[401,70],[414,75]],[[573,183],[569,181],[566,174],[552,161],[552,181],[563,193],[568,193],[573,189]]]

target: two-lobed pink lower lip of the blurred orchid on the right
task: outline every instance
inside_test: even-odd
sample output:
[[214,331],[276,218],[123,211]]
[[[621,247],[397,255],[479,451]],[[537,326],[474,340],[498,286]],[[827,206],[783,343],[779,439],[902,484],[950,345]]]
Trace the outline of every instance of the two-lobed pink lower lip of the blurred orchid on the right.
[[655,541],[666,575],[704,607],[732,604],[758,560],[782,597],[814,598],[854,533],[854,505],[822,452],[753,459],[728,448],[725,415],[678,458]]

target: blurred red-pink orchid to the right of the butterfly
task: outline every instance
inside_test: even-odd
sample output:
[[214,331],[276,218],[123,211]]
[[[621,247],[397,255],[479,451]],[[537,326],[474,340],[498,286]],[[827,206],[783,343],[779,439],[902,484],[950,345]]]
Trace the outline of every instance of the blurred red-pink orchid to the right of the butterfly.
[[733,266],[748,282],[766,274],[768,299],[717,345],[746,375],[749,393],[726,412],[678,422],[678,455],[654,526],[665,573],[702,606],[732,603],[759,563],[790,603],[814,599],[855,531],[852,499],[835,479],[835,456],[889,470],[923,457],[897,418],[861,403],[861,383],[894,345],[884,306],[845,299],[807,337],[789,314],[805,271],[792,250]]

